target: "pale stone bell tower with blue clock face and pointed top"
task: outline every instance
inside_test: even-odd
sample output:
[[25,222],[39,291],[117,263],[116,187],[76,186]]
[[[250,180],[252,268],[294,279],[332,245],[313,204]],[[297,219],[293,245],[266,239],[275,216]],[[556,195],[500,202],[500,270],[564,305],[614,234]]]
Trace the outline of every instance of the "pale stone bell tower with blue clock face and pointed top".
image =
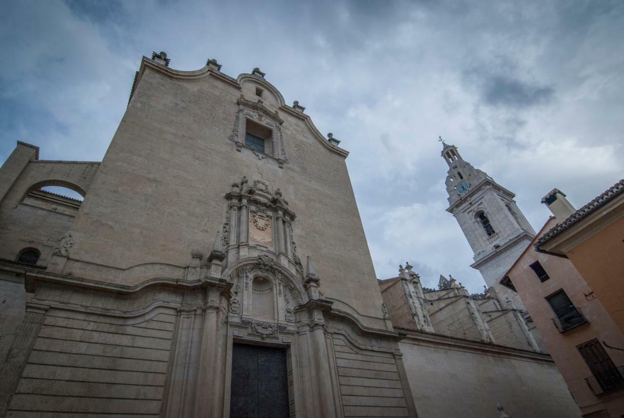
[[499,281],[527,248],[535,231],[514,200],[514,193],[472,167],[455,145],[442,141],[442,158],[449,165],[446,191],[449,208],[474,252],[471,267],[480,271],[510,308],[524,309],[517,293]]

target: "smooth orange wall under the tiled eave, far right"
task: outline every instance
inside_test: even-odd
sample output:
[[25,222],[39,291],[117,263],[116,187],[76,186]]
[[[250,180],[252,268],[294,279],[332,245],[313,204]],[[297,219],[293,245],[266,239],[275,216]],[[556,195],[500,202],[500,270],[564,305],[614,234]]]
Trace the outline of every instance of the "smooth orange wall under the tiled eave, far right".
[[590,236],[567,256],[624,331],[624,218]]

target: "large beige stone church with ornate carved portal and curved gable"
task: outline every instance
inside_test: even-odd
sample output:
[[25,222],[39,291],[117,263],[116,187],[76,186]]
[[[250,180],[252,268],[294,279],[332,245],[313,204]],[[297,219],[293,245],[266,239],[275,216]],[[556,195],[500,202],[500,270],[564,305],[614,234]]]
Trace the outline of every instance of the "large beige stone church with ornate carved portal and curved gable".
[[[102,162],[18,142],[0,169],[0,417],[580,416],[498,289],[376,279],[348,152],[303,106],[168,64],[142,59]],[[510,210],[500,248],[534,233]]]

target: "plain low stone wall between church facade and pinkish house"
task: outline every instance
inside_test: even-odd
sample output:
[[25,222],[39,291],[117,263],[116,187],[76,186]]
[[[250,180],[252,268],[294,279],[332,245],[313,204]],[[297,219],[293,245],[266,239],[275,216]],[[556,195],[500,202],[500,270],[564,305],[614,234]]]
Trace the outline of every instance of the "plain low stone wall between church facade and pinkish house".
[[408,332],[399,343],[419,418],[575,418],[580,411],[549,356]]

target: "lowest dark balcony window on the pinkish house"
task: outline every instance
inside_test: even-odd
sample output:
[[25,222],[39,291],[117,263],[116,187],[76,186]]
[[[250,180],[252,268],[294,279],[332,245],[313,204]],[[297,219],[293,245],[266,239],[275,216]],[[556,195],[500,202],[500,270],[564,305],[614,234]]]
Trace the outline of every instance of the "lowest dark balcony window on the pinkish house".
[[600,341],[593,339],[577,348],[587,367],[592,371],[593,376],[587,377],[585,381],[594,394],[598,395],[624,387],[622,366],[615,367]]

